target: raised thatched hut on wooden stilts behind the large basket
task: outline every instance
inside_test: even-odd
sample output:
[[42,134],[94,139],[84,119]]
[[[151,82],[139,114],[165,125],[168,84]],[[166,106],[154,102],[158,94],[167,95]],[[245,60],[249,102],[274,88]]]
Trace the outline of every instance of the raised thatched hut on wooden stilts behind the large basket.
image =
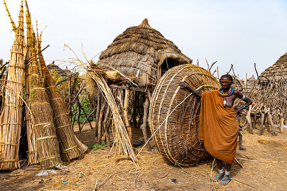
[[[160,77],[174,66],[189,63],[191,59],[181,53],[172,41],[152,28],[147,19],[138,26],[127,28],[102,52],[97,66],[105,71],[114,71],[114,68],[125,75],[125,80],[113,79],[108,84],[121,106],[123,121],[131,142],[133,139],[130,122],[135,128],[142,129],[144,140],[148,141],[146,132],[148,107],[152,90]],[[104,116],[99,112],[107,110],[104,102],[99,95],[96,119],[98,119],[97,116]],[[139,116],[138,121],[137,116]],[[98,128],[102,129],[102,120],[101,118],[97,120],[99,123],[96,122],[96,128],[98,125]],[[141,121],[142,125],[140,125]],[[100,129],[98,132],[101,132]],[[100,139],[101,133],[98,133],[99,142]],[[147,148],[151,151],[149,144]]]

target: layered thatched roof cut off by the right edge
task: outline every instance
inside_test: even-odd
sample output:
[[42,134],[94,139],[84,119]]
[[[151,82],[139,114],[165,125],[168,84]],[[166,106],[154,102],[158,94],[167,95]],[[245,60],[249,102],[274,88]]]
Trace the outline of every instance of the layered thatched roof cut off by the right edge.
[[[275,64],[267,68],[276,79],[287,77],[287,52],[282,55]],[[259,76],[260,80],[274,80],[274,77],[268,70],[262,72]]]

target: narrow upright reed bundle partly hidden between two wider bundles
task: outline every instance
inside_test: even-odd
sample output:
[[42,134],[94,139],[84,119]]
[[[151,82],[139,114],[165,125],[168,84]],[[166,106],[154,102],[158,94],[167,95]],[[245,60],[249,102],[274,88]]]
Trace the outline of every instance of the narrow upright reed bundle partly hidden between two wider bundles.
[[[27,25],[27,55],[26,58],[32,57],[32,37],[34,38],[34,31],[32,28],[32,22],[31,22],[31,16],[28,9],[27,1],[25,0],[26,5],[26,25]],[[27,60],[29,62],[31,60]],[[25,66],[25,83],[29,84],[29,78],[31,76],[30,68],[27,67],[30,64]],[[35,131],[34,127],[32,126],[31,121],[31,113],[30,113],[30,100],[29,100],[30,90],[29,85],[25,87],[25,97],[26,97],[26,127],[27,127],[27,137],[28,137],[28,165],[33,165],[39,163],[38,157],[37,157],[37,145],[36,145],[36,137],[35,137]]]

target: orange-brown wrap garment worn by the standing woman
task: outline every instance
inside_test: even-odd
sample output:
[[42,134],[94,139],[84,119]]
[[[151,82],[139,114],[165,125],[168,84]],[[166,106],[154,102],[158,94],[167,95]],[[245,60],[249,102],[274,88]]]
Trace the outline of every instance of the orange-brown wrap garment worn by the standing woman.
[[238,136],[238,120],[234,107],[223,107],[217,90],[202,93],[199,140],[213,157],[232,164]]

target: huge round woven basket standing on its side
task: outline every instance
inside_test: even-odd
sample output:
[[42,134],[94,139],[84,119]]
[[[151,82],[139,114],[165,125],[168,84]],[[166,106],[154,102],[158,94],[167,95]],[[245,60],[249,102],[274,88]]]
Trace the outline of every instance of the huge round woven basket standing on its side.
[[201,67],[179,65],[160,78],[152,94],[149,124],[152,134],[156,131],[156,147],[171,163],[191,165],[210,155],[198,142],[200,97],[181,89],[181,81],[200,92],[215,90],[220,84]]

